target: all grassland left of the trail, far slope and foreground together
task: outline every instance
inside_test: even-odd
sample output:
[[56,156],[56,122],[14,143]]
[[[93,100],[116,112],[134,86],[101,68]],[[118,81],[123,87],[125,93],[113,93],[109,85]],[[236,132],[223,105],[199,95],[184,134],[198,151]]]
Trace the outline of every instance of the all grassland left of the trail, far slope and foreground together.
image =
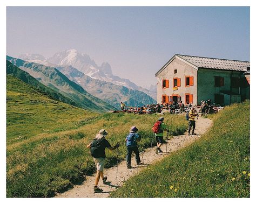
[[[144,149],[151,145],[151,129],[158,117],[95,114],[55,101],[7,75],[6,196],[50,197],[55,192],[66,191],[82,182],[85,174],[95,172],[86,145],[100,129],[109,132],[107,139],[112,145],[121,144],[118,149],[121,161],[125,159],[124,139],[131,126],[139,129],[143,138],[140,148]],[[166,115],[165,122],[172,135],[186,131],[184,116]],[[116,153],[106,150],[105,167],[116,164]]]

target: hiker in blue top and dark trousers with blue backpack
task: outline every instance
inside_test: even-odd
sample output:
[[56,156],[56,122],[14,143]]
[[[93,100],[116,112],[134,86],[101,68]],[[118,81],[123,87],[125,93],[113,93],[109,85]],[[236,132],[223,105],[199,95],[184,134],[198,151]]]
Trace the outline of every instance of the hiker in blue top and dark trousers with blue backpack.
[[137,146],[137,142],[140,141],[141,137],[137,133],[138,129],[136,126],[132,126],[129,135],[126,136],[125,142],[126,142],[126,148],[127,148],[127,154],[126,154],[126,166],[127,168],[131,167],[131,155],[132,152],[135,153],[136,163],[140,164],[140,158],[139,158],[139,149]]

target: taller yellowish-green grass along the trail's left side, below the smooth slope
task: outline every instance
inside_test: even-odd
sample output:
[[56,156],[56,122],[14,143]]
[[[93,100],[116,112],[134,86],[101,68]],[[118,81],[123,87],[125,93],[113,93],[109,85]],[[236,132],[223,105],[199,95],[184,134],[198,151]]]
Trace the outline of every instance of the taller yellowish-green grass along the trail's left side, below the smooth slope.
[[[63,116],[59,114],[60,111],[50,115],[62,118]],[[44,114],[44,117],[46,119],[48,115]],[[69,130],[66,131],[45,132],[43,135],[9,144],[7,196],[45,197],[63,191],[84,179],[87,158],[89,158],[87,173],[95,172],[92,157],[85,146],[91,142],[99,129],[104,128],[109,131],[107,139],[112,145],[120,142],[121,146],[118,149],[120,160],[125,158],[124,139],[132,125],[136,125],[142,135],[140,145],[143,148],[150,146],[153,138],[151,128],[158,117],[159,115],[104,114],[95,118],[80,119],[73,126],[70,125]],[[166,115],[165,118],[166,124],[173,133],[177,133],[177,130],[185,131],[187,123],[184,116]],[[63,121],[64,119],[55,121],[56,126],[62,125]],[[44,124],[43,121],[42,123]],[[116,150],[112,152],[106,150],[105,167],[116,164],[116,153]]]

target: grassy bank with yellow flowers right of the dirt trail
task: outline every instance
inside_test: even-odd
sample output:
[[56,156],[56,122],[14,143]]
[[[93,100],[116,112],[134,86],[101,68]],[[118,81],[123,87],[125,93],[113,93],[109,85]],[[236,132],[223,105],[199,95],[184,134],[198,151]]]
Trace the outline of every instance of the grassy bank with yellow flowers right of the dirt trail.
[[250,103],[226,107],[213,120],[196,143],[149,166],[111,197],[250,197]]

